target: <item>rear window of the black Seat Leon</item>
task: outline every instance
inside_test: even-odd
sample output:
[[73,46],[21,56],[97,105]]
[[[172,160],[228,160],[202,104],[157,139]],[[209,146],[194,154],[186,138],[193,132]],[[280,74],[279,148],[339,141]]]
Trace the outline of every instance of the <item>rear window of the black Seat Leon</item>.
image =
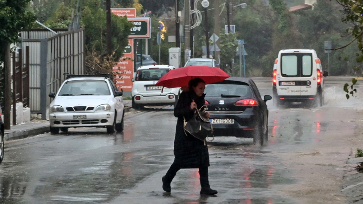
[[242,84],[207,84],[204,92],[206,97],[245,97],[248,95],[249,86]]

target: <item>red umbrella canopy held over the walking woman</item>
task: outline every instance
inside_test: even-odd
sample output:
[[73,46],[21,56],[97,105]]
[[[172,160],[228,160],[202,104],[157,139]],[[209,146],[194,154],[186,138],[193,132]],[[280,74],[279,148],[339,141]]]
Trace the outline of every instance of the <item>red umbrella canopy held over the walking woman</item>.
[[188,86],[189,80],[193,78],[201,78],[206,84],[209,84],[221,82],[228,77],[229,75],[227,73],[217,67],[191,65],[170,70],[155,85],[175,88]]

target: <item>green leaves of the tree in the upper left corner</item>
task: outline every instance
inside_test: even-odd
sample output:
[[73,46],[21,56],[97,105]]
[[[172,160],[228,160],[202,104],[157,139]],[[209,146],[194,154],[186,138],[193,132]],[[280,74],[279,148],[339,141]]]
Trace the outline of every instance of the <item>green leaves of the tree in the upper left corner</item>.
[[[27,10],[30,0],[0,0],[0,65],[4,62],[4,48],[19,41],[18,33],[31,25],[36,16]],[[0,66],[0,75],[3,67]],[[0,83],[0,90],[4,90]],[[3,101],[3,91],[0,91],[0,102]]]

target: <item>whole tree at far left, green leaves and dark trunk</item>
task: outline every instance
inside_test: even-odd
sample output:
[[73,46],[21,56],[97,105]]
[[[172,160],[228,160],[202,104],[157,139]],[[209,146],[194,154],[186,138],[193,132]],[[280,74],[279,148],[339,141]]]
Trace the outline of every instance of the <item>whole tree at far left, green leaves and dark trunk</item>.
[[[27,11],[30,0],[0,0],[0,65],[4,62],[5,70],[0,66],[0,74],[4,73],[5,84],[1,84],[1,90],[5,95],[4,123],[5,129],[10,129],[11,106],[11,74],[10,74],[10,44],[18,42],[18,34],[21,30],[31,25],[36,16]],[[1,86],[0,85],[0,86]],[[0,95],[0,101],[4,95]]]

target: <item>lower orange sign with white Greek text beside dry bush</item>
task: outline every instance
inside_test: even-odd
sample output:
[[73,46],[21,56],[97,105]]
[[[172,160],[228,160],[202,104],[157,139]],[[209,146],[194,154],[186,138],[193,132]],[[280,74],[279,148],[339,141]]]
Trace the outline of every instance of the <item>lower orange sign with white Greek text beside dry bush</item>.
[[129,39],[129,45],[125,48],[123,57],[113,68],[113,73],[116,76],[115,82],[119,91],[131,91],[134,77],[134,40]]

